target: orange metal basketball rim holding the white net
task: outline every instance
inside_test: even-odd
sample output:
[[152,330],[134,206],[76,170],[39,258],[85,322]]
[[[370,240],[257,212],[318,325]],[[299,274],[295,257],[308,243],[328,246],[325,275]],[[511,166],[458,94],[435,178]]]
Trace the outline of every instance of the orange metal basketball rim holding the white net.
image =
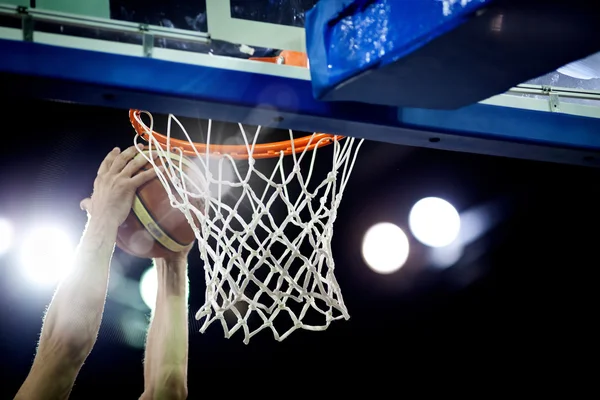
[[[129,110],[129,119],[133,125],[133,129],[147,142],[150,142],[152,136],[161,146],[164,148],[169,145],[171,148],[179,148],[186,156],[196,156],[197,153],[203,154],[208,152],[212,155],[224,155],[228,154],[234,159],[246,160],[250,158],[248,149],[245,144],[241,145],[224,145],[224,144],[211,144],[206,143],[190,143],[187,140],[167,138],[167,136],[150,131],[150,128],[144,124],[141,118],[140,110]],[[293,153],[302,153],[303,151],[311,151],[316,148],[324,147],[332,144],[336,140],[343,139],[344,136],[331,135],[329,133],[317,133],[314,135],[304,136],[295,140],[284,140],[281,142],[261,143],[254,146],[252,152],[252,158],[275,158],[279,157],[281,153],[289,156]]]

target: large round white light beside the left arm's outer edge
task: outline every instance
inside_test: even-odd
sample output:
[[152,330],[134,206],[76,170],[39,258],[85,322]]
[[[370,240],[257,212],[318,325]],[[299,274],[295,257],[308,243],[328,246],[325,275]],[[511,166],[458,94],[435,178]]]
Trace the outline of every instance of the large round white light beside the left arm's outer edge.
[[33,282],[53,285],[73,267],[75,246],[69,236],[55,227],[37,228],[23,241],[20,259],[23,272]]

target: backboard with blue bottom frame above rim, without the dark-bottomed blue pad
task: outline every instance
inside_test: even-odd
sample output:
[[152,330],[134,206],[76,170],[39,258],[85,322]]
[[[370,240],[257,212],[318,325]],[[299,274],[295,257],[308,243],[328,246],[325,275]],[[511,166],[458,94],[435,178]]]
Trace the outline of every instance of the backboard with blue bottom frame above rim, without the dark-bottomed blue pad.
[[[600,165],[600,62],[594,56],[455,110],[329,102],[315,98],[311,71],[249,60],[276,56],[279,50],[309,51],[307,37],[314,38],[315,26],[307,35],[306,11],[317,0],[2,2],[0,82],[5,96],[118,107],[124,115],[129,108],[140,108],[410,146]],[[359,11],[392,4],[324,3],[356,3]],[[436,12],[448,4],[457,7],[455,3],[422,2]],[[473,8],[472,14],[481,11]],[[502,19],[492,22],[490,31],[501,32]],[[442,72],[451,69],[442,66]],[[426,79],[421,82],[427,86]],[[389,89],[385,84],[379,88]]]

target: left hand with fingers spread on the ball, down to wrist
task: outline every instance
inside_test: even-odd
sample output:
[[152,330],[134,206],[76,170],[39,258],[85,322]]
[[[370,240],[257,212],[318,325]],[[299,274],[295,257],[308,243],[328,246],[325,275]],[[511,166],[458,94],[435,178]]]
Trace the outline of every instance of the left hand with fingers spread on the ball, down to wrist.
[[89,218],[113,221],[117,226],[125,222],[135,191],[156,177],[154,168],[135,175],[147,163],[146,158],[135,157],[138,153],[135,146],[123,152],[115,148],[108,153],[98,169],[92,196],[80,203]]

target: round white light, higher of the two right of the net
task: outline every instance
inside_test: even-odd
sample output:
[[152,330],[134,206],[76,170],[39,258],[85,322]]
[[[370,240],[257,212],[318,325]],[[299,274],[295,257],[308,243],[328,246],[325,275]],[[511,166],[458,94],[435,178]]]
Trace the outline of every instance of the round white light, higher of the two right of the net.
[[446,200],[427,197],[413,206],[408,224],[421,243],[430,247],[444,247],[458,237],[460,215]]

